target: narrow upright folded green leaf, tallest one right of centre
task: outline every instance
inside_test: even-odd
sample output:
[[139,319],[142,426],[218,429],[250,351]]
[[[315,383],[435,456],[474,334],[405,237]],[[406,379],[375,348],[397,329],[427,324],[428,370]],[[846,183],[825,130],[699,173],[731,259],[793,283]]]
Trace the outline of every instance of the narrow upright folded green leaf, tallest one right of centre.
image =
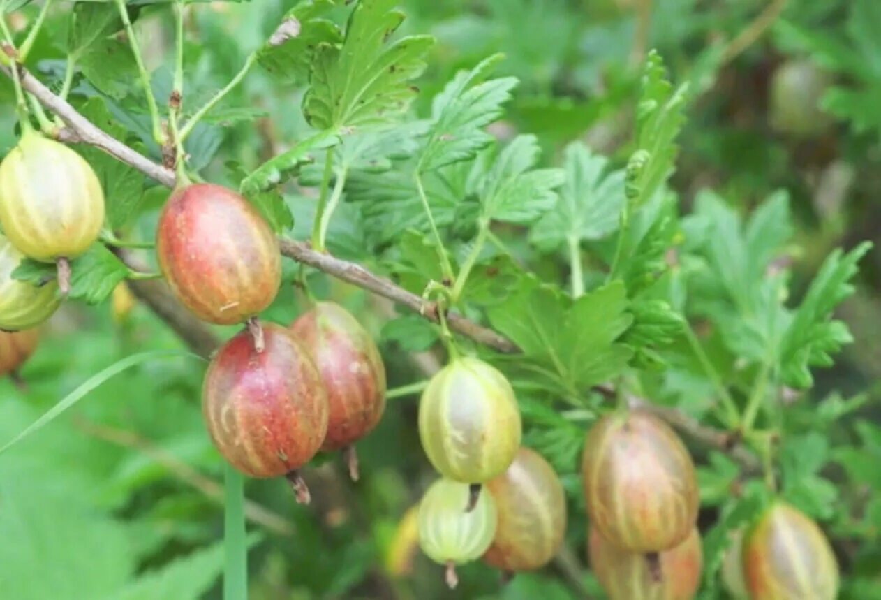
[[685,122],[687,85],[676,90],[665,78],[663,59],[649,52],[636,111],[636,152],[627,163],[627,211],[633,213],[655,196],[673,172],[675,144]]

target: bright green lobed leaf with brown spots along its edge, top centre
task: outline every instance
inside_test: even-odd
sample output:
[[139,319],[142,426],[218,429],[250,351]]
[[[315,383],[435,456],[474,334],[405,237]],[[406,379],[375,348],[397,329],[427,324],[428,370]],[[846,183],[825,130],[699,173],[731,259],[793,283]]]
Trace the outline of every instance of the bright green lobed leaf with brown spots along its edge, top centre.
[[343,45],[322,43],[315,51],[303,111],[319,130],[361,128],[394,120],[417,90],[410,85],[425,69],[429,35],[387,45],[403,22],[396,0],[361,0],[349,18]]

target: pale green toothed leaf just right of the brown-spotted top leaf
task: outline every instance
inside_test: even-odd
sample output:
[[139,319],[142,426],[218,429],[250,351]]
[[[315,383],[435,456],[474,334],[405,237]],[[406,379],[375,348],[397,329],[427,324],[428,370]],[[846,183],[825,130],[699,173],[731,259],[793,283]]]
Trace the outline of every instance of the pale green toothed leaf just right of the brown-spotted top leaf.
[[516,78],[486,81],[501,55],[493,55],[470,71],[460,71],[432,104],[431,130],[419,156],[418,170],[425,172],[473,158],[492,143],[484,130],[502,114]]

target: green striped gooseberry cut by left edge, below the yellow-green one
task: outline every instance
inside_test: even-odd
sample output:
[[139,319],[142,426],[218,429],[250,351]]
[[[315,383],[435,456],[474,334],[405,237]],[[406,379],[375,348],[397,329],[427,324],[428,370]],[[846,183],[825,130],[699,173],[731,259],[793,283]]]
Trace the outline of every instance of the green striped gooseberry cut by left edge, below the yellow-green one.
[[24,256],[0,235],[0,330],[26,330],[46,321],[61,303],[58,284],[37,287],[12,278]]

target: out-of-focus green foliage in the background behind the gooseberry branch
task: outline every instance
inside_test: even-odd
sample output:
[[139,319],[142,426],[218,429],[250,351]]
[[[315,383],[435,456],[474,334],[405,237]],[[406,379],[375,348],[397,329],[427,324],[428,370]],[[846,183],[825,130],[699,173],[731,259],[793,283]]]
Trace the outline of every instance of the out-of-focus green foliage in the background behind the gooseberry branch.
[[[137,4],[136,29],[152,84],[159,97],[171,85],[173,29],[170,12]],[[199,106],[240,69],[294,4],[289,0],[195,4],[189,11],[186,59],[187,106]],[[796,293],[835,246],[877,240],[881,226],[881,3],[877,0],[405,0],[404,33],[432,33],[439,43],[418,81],[415,110],[428,102],[456,70],[494,52],[506,59],[500,75],[521,79],[506,120],[493,132],[537,135],[544,160],[559,163],[564,144],[582,139],[617,166],[626,161],[633,133],[640,64],[648,48],[665,57],[675,81],[691,81],[694,100],[680,137],[673,185],[690,211],[700,189],[714,188],[742,213],[776,189],[786,189],[796,225],[796,243],[785,260],[794,268]],[[41,78],[60,88],[70,5],[59,3],[34,49]],[[33,19],[27,4],[11,15],[14,30]],[[340,16],[340,18],[342,18]],[[766,28],[767,26],[767,28]],[[755,35],[753,35],[755,33]],[[149,118],[125,72],[130,55],[106,48],[85,57],[89,80],[76,78],[78,104],[102,95],[130,131],[144,131]],[[115,71],[115,69],[119,71]],[[237,164],[256,164],[301,138],[302,82],[252,70],[189,141],[193,167],[212,181],[230,181]],[[100,87],[100,89],[96,89]],[[163,92],[164,91],[164,92]],[[16,141],[12,89],[0,80],[0,152]],[[255,117],[270,118],[253,121]],[[167,192],[145,196],[147,217],[136,232],[152,235],[156,211]],[[306,206],[307,208],[302,208]],[[308,204],[294,204],[295,232],[311,223]],[[339,214],[345,214],[345,207]],[[331,249],[363,248],[356,219],[338,217]],[[519,254],[534,253],[522,236],[508,243]],[[555,256],[533,256],[539,271],[557,272]],[[291,268],[291,265],[288,265]],[[559,277],[557,277],[559,278]],[[394,311],[386,304],[325,278],[315,285],[352,308],[381,339],[389,385],[421,378],[430,353],[412,359],[395,331],[382,325]],[[846,445],[830,456],[819,433],[784,448],[790,473],[800,481],[820,467],[844,471],[846,491],[862,498],[862,519],[836,522],[834,534],[847,556],[847,597],[877,598],[881,564],[881,325],[878,251],[862,262],[858,292],[842,308],[855,344],[839,364],[818,377],[819,410],[794,411],[798,419],[827,419],[830,432],[849,402],[864,404]],[[285,296],[285,294],[282,294]],[[268,318],[288,322],[297,313],[290,295]],[[232,330],[218,328],[228,337]],[[433,339],[426,340],[427,345]],[[27,363],[26,392],[0,381],[0,441],[10,439],[59,398],[101,368],[146,349],[180,342],[143,307],[122,293],[99,307],[68,304],[51,322],[39,351]],[[211,448],[200,413],[204,363],[175,358],[147,363],[93,391],[62,419],[0,456],[0,597],[10,600],[71,598],[218,597],[222,567],[222,467]],[[693,383],[693,382],[692,382]],[[682,385],[688,385],[683,381]],[[840,395],[828,395],[832,389]],[[858,396],[857,396],[858,395]],[[853,398],[856,400],[853,400]],[[552,419],[539,407],[530,418]],[[584,568],[584,521],[574,473],[563,473],[573,493],[568,552],[538,574],[518,575],[504,588],[498,574],[475,564],[461,571],[459,589],[442,586],[439,569],[412,547],[407,511],[433,479],[418,445],[415,398],[391,401],[380,428],[359,444],[362,480],[352,485],[335,460],[307,470],[311,507],[296,506],[282,481],[248,482],[251,597],[577,597],[583,589],[599,597]],[[581,431],[571,422],[569,438]],[[540,435],[541,432],[534,433]],[[566,439],[566,435],[562,438]],[[529,440],[528,440],[529,441]],[[577,448],[572,448],[577,452]],[[562,452],[562,451],[561,451]],[[705,505],[729,492],[736,476],[721,455],[708,456],[702,473]],[[831,466],[830,466],[831,465]],[[736,470],[734,470],[736,473]],[[834,478],[834,473],[833,476]],[[820,507],[823,485],[806,487]],[[871,491],[875,490],[874,498]],[[820,512],[818,509],[817,512]]]

